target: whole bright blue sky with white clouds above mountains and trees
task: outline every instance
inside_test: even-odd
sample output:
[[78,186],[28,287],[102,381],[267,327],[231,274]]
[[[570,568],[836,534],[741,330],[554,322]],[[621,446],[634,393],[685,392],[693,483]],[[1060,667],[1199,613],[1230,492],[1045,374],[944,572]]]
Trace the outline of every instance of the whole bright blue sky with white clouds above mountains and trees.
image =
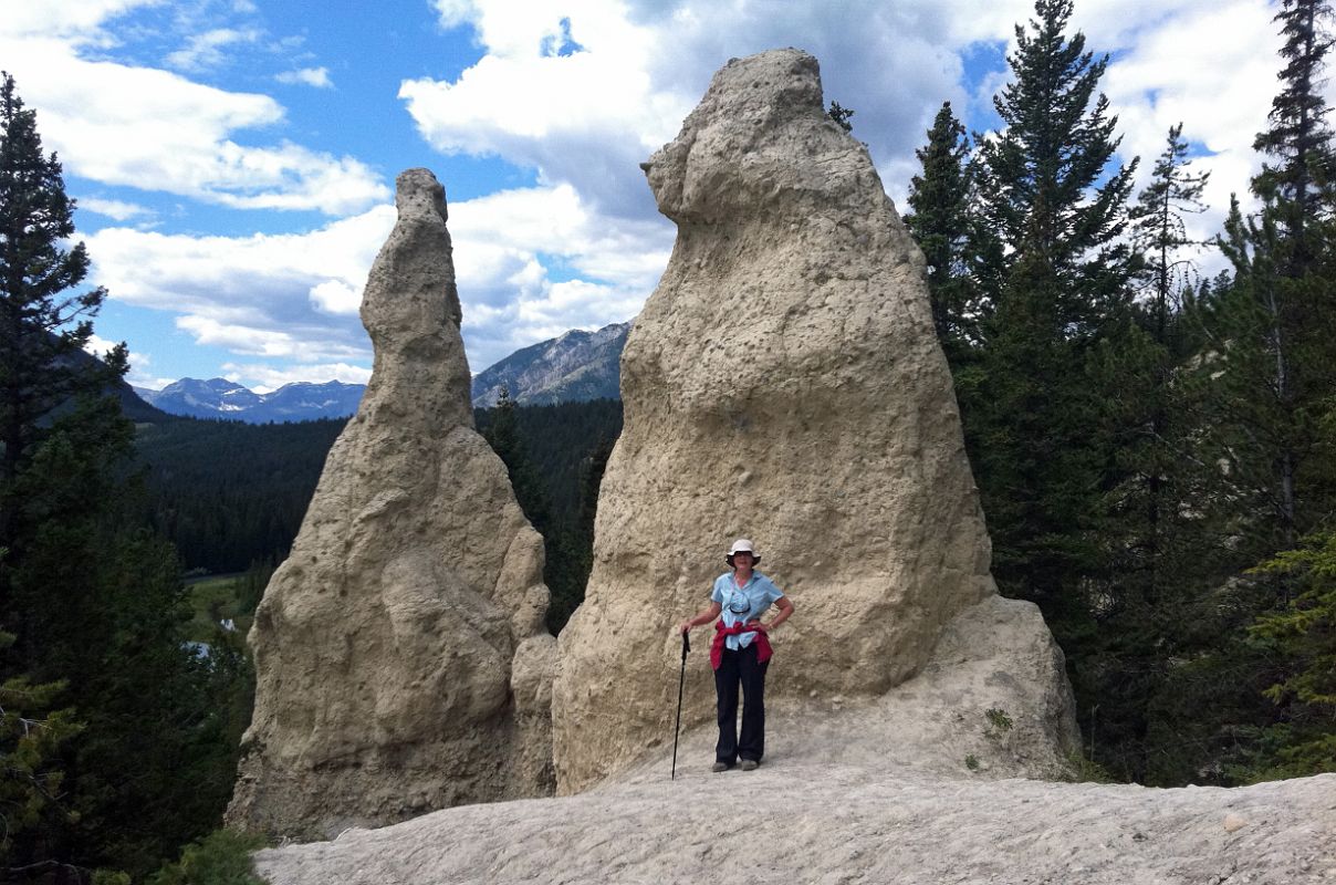
[[[822,61],[903,206],[943,100],[994,123],[1013,25],[999,0],[41,0],[0,16],[0,64],[79,201],[100,342],[132,381],[255,389],[365,382],[357,317],[393,226],[394,175],[446,187],[473,369],[572,328],[629,320],[673,229],[637,163],[731,56]],[[1124,154],[1169,126],[1212,171],[1212,233],[1256,166],[1276,90],[1273,4],[1078,0],[1109,52]],[[1205,257],[1208,263],[1213,259]]]

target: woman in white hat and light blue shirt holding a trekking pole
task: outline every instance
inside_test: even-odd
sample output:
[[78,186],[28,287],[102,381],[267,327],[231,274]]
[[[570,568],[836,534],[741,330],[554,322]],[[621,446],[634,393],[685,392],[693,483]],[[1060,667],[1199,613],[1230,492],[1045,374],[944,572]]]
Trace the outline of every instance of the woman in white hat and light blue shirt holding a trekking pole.
[[[709,606],[681,622],[681,632],[723,615],[715,624],[715,642],[709,647],[719,698],[719,743],[711,770],[727,771],[741,759],[741,770],[751,771],[766,755],[766,670],[771,654],[766,634],[788,620],[794,603],[774,582],[752,571],[760,556],[745,537],[733,541],[724,559],[733,571],[715,580]],[[779,614],[763,624],[760,616],[771,606],[779,608]],[[739,683],[743,687],[741,739],[737,737]]]

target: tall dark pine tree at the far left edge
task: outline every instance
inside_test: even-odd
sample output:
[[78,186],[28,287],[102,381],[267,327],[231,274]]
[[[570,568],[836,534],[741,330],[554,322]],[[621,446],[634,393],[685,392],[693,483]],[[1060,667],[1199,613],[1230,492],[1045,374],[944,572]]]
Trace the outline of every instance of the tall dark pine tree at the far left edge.
[[[16,642],[0,650],[0,684],[51,687],[35,703],[65,733],[41,750],[41,777],[60,793],[32,826],[9,830],[0,868],[139,876],[212,829],[235,770],[224,741],[235,735],[215,701],[219,663],[184,644],[175,552],[132,516],[134,425],[108,396],[124,348],[106,364],[80,353],[106,295],[68,294],[88,270],[83,246],[64,246],[72,209],[35,114],[4,75],[0,624]],[[12,737],[0,734],[0,753],[24,750]]]

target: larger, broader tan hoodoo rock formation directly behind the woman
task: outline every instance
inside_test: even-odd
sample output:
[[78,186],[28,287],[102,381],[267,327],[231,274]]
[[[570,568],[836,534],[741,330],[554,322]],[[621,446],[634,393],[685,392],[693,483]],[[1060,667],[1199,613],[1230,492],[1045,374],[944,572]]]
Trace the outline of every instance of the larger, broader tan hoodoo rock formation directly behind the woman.
[[[934,714],[943,727],[1005,709],[1034,735],[1011,773],[1061,765],[1074,746],[1061,652],[1037,612],[1018,620],[1025,604],[997,598],[923,257],[866,148],[826,115],[816,60],[729,61],[644,168],[677,242],[623,356],[593,574],[560,640],[558,791],[672,741],[673,626],[707,603],[735,536],[798,607],[774,636],[776,706],[882,698],[954,635],[955,660],[993,668],[971,691],[953,694],[941,668],[922,683],[937,707],[962,707]],[[957,618],[969,626],[953,634]],[[1005,642],[1042,667],[1009,672],[993,622],[1025,626]],[[689,683],[684,722],[707,722],[708,670]]]

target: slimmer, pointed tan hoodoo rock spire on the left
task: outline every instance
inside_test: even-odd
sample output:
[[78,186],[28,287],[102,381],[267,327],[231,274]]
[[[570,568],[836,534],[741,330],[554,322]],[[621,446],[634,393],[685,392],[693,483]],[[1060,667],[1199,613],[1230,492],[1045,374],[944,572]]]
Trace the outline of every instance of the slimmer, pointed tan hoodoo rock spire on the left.
[[255,715],[227,821],[298,838],[552,790],[542,539],[473,428],[445,191],[398,176],[375,348],[255,614]]

